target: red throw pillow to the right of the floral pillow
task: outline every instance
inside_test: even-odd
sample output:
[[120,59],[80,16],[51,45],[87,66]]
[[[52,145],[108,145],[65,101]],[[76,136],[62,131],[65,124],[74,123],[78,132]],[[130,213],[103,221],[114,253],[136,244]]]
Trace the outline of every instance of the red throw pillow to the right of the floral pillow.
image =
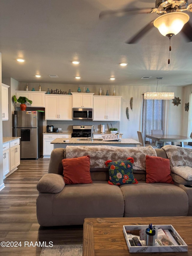
[[174,183],[167,158],[146,155],[146,183]]

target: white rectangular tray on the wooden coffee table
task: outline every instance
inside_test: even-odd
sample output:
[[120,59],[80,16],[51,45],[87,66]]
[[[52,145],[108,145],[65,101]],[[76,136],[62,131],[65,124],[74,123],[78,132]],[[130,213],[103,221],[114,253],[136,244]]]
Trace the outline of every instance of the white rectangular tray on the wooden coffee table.
[[[126,239],[128,249],[130,252],[169,252],[169,251],[181,252],[181,251],[187,251],[187,249],[188,249],[187,244],[184,242],[184,240],[181,238],[181,236],[177,233],[177,231],[174,229],[174,227],[172,225],[155,225],[155,227],[162,228],[163,230],[165,230],[165,229],[172,230],[182,245],[131,246],[130,242],[129,242],[129,238],[131,237],[131,234],[127,234],[126,230],[141,230],[141,229],[146,229],[147,227],[149,227],[149,225],[123,226],[123,233],[125,235],[125,239]],[[132,236],[134,236],[134,235],[132,235]]]

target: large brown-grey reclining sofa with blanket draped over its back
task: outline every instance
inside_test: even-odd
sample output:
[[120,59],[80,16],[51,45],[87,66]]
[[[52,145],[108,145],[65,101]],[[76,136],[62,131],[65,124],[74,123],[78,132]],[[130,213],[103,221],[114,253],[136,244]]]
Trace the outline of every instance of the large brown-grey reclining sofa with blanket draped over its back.
[[[90,155],[93,183],[65,184],[62,159],[84,155]],[[37,184],[38,223],[60,226],[83,224],[84,218],[192,215],[192,187],[189,182],[174,174],[175,184],[146,183],[146,155],[167,158],[164,149],[151,146],[67,146],[66,149],[54,149],[48,173]],[[109,171],[104,162],[128,157],[135,160],[133,173],[138,184],[108,184]],[[185,187],[185,183],[189,187]]]

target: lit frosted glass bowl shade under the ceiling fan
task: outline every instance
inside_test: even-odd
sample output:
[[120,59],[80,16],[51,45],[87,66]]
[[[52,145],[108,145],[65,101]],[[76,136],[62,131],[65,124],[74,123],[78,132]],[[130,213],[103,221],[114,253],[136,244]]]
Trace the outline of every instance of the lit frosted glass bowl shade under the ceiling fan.
[[158,28],[161,35],[177,35],[188,20],[189,15],[182,12],[173,12],[158,17],[153,24]]

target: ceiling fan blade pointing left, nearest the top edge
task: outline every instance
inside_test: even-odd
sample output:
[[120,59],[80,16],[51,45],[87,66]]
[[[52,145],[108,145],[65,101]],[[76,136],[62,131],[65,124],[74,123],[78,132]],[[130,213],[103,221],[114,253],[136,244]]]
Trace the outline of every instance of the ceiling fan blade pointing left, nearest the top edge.
[[122,17],[125,15],[134,15],[134,14],[147,14],[156,12],[157,8],[134,8],[134,9],[120,9],[120,10],[107,10],[102,11],[99,14],[99,18],[102,19],[104,17]]

